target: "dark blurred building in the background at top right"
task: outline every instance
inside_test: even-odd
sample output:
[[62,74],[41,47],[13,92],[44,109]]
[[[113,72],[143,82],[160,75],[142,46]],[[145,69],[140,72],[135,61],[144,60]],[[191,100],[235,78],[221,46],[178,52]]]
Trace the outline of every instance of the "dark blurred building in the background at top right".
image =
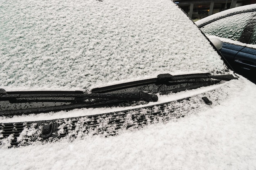
[[256,0],[173,0],[192,20],[200,20],[214,13],[247,4]]

